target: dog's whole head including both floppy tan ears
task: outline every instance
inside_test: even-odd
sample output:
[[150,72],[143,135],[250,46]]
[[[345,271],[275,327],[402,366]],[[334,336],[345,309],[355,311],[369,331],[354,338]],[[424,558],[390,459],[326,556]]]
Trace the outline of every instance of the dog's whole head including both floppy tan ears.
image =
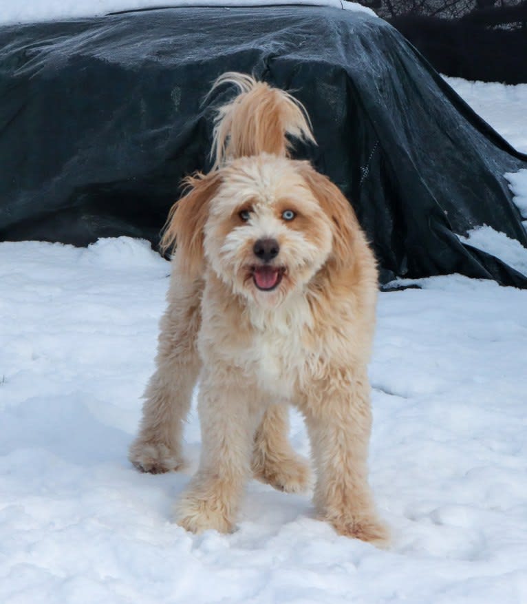
[[180,267],[211,269],[237,295],[277,306],[321,269],[352,262],[356,218],[337,187],[308,163],[260,154],[189,180],[164,244]]

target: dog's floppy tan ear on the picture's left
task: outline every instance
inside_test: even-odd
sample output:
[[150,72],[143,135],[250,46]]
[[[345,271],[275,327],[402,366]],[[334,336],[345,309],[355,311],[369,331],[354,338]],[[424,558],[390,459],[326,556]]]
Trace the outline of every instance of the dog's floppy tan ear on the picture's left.
[[204,269],[203,239],[208,209],[222,182],[220,172],[197,173],[185,178],[190,190],[171,207],[164,226],[161,249],[174,246],[180,256],[180,266],[191,276],[199,276]]

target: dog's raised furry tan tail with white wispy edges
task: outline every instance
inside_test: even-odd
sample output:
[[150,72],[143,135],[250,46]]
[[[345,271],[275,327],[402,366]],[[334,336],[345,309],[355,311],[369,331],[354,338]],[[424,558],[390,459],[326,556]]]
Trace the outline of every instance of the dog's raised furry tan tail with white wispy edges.
[[235,84],[239,94],[217,110],[213,168],[260,153],[288,157],[292,146],[288,136],[316,145],[305,107],[288,92],[237,72],[219,76],[211,92],[226,83]]

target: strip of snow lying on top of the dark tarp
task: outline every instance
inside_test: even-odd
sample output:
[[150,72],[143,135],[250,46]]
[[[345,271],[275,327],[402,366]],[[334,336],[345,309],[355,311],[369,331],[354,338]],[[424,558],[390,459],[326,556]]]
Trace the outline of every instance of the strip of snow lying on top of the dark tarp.
[[367,12],[376,17],[371,8],[344,0],[2,0],[0,25],[32,23],[58,19],[102,17],[110,12],[141,10],[147,8],[171,8],[177,6],[276,6],[303,4],[306,6],[332,6],[343,10]]

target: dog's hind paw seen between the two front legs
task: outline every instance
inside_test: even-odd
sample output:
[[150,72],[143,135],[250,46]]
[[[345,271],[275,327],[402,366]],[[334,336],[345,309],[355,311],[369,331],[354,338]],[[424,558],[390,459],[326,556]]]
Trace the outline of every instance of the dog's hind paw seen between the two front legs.
[[312,481],[310,466],[299,455],[273,463],[266,459],[264,463],[253,464],[252,470],[259,481],[287,493],[305,491]]

